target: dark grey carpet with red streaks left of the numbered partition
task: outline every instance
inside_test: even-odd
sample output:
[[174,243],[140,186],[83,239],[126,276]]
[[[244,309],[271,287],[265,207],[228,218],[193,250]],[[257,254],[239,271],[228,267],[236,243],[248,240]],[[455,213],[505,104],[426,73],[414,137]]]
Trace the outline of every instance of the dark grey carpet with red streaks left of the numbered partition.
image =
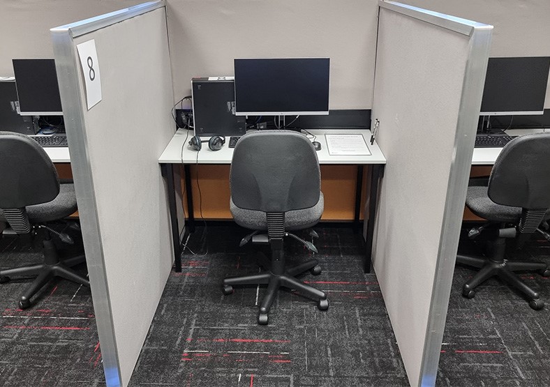
[[[75,238],[77,239],[77,238]],[[60,246],[61,257],[82,243]],[[40,249],[15,236],[0,239],[0,267],[40,262]],[[86,266],[75,269],[86,273]],[[0,386],[105,386],[91,292],[54,279],[20,310],[17,301],[31,278],[0,284]]]

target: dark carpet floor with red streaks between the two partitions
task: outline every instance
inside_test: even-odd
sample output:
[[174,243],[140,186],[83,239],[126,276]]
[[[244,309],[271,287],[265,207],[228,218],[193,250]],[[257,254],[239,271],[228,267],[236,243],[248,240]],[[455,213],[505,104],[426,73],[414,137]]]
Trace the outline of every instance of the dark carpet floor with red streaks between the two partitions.
[[[258,326],[265,287],[235,287],[226,276],[258,272],[246,230],[200,229],[190,238],[182,273],[172,273],[131,386],[406,386],[399,349],[374,274],[362,273],[362,242],[350,229],[320,227],[323,271],[302,275],[327,292],[330,307],[280,291],[269,325]],[[311,257],[285,240],[288,264]],[[200,257],[206,253],[205,257]]]

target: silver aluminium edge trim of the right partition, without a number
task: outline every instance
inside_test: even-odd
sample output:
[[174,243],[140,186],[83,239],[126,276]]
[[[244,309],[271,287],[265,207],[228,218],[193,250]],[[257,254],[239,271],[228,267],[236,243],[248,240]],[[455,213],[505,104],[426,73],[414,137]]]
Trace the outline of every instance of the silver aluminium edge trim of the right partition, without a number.
[[456,222],[456,219],[462,219],[466,200],[475,128],[477,127],[477,117],[480,115],[484,86],[484,82],[481,81],[486,73],[493,26],[394,1],[379,1],[379,6],[470,36],[468,61],[454,138],[454,160],[452,160],[447,183],[443,227],[440,234],[436,273],[433,279],[428,326],[426,327],[426,341],[424,342],[418,381],[419,386],[434,386],[458,248],[455,239],[460,232],[460,223]]

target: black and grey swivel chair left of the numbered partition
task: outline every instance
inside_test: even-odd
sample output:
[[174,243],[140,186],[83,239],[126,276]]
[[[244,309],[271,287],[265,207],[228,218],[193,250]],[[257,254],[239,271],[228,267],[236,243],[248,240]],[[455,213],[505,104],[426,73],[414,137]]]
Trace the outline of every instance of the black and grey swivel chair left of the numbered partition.
[[45,151],[30,137],[0,132],[0,224],[6,223],[17,234],[43,239],[44,261],[31,266],[0,270],[0,283],[10,276],[36,279],[21,296],[21,309],[29,308],[34,296],[51,278],[58,276],[89,286],[89,281],[70,267],[84,261],[84,255],[61,261],[51,234],[72,243],[70,236],[47,226],[76,211],[73,184],[60,184],[57,171]]

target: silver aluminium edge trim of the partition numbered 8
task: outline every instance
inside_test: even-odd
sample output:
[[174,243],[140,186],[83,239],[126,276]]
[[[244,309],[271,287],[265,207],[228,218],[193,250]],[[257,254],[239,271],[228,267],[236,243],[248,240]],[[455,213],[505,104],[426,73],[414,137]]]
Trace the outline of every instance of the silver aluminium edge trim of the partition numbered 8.
[[[103,29],[106,26],[122,22],[131,17],[151,12],[165,7],[164,0],[150,1],[137,6],[125,8],[105,15],[91,17],[72,24],[66,24],[50,29],[55,66],[59,83],[59,93],[63,107],[67,137],[70,144],[70,162],[73,169],[80,208],[82,232],[91,241],[86,248],[87,266],[94,282],[94,310],[96,324],[101,341],[101,356],[105,382],[108,387],[121,386],[121,373],[117,342],[114,335],[112,308],[107,284],[103,243],[99,228],[96,197],[94,195],[94,179],[87,150],[87,137],[84,124],[83,107],[86,105],[80,93],[78,68],[80,66],[73,38],[86,33]],[[90,214],[82,218],[82,213]]]

